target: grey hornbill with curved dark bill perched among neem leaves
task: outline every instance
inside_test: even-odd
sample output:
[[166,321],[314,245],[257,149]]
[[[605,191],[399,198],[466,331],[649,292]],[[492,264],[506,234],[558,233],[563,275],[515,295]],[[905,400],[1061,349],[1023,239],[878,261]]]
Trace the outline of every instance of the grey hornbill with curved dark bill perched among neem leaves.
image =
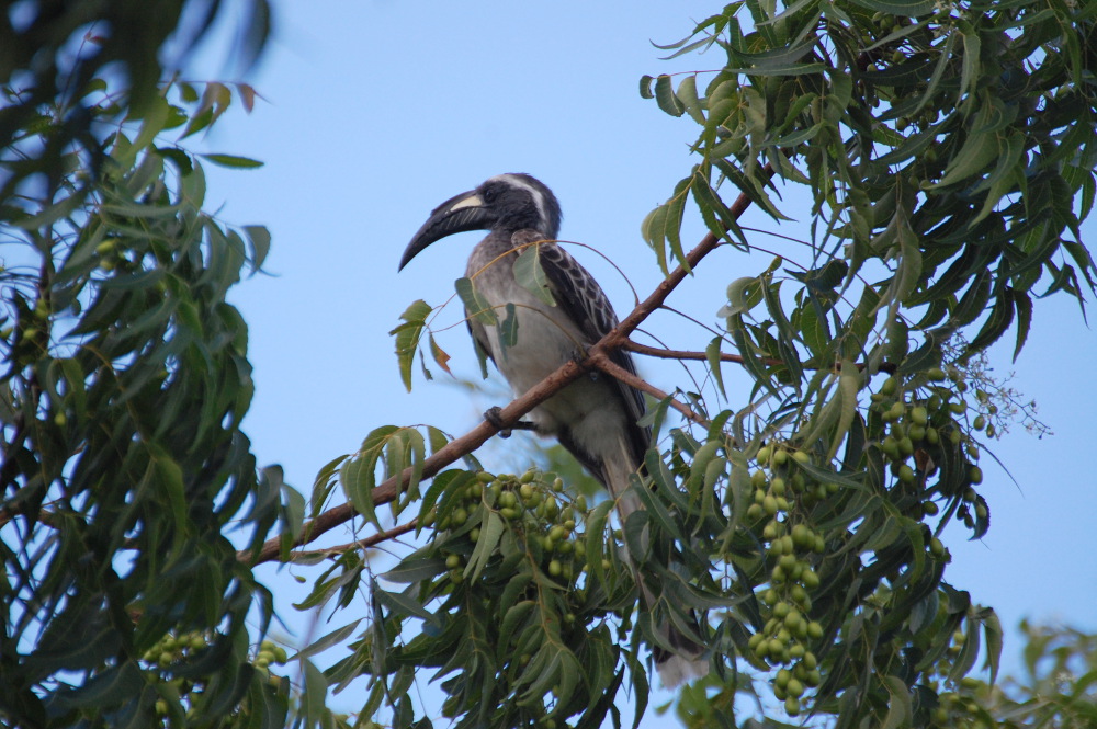
[[[475,190],[454,195],[436,207],[412,236],[398,271],[431,243],[457,232],[487,230],[468,258],[466,277],[480,299],[496,311],[513,305],[517,341],[501,341],[499,328],[468,316],[476,345],[502,374],[516,395],[527,392],[558,367],[585,356],[585,351],[618,326],[613,307],[593,276],[557,244],[563,219],[559,202],[540,180],[525,173],[493,176]],[[513,262],[538,246],[545,284],[554,305],[522,286]],[[635,375],[632,355],[614,350],[610,358]],[[496,426],[498,408],[485,413]],[[565,386],[534,408],[522,423],[540,435],[555,437],[598,479],[617,501],[623,525],[643,505],[629,490],[630,476],[642,469],[651,447],[649,428],[638,424],[643,394],[621,380],[591,373]],[[506,433],[504,433],[506,434]],[[647,607],[651,590],[637,578]],[[708,673],[705,649],[669,623],[657,628],[664,646],[653,647],[663,684],[676,686]]]

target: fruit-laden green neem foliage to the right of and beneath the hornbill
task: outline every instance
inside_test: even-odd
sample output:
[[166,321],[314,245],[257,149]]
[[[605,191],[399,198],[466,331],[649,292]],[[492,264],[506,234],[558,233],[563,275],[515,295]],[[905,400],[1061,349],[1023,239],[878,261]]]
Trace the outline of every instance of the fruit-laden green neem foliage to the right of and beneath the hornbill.
[[[614,346],[704,360],[715,390],[733,362],[753,389],[657,396],[653,423],[674,407],[687,424],[648,453],[634,485],[646,510],[620,525],[611,503],[572,496],[552,472],[485,474],[468,459],[442,470],[494,433],[487,424],[452,442],[372,433],[321,471],[305,533],[357,511],[378,529],[364,544],[427,538],[380,580],[355,549],[308,555],[328,558],[309,604],[357,612],[363,580],[372,602],[364,629],[318,643],[354,637],[326,680],[369,676],[361,716],[388,705],[396,726],[430,724],[411,700],[427,680],[461,727],[620,724],[630,687],[638,720],[652,626],[689,630],[692,612],[714,672],[681,695],[690,726],[744,721],[757,705],[736,703],[740,692],[836,727],[991,720],[957,691],[980,654],[993,681],[1000,628],[947,582],[939,535],[953,520],[973,536],[988,528],[981,451],[1024,417],[985,376],[983,352],[1007,332],[1024,345],[1034,297],[1081,304],[1094,286],[1078,225],[1095,192],[1095,15],[1092,3],[1027,0],[748,2],[670,46],[706,52],[706,68],[722,55],[723,68],[641,83],[698,125],[694,167],[644,224],[667,280],[502,418],[585,371],[620,375],[606,357]],[[719,337],[692,353],[629,340],[708,253],[761,242],[739,226],[744,208],[783,232],[774,190],[796,185],[813,200],[795,231],[805,240],[728,282],[722,308],[712,303]],[[710,230],[689,252],[687,214]],[[534,293],[535,257],[516,263]],[[506,311],[478,310],[475,281],[459,291],[516,335]],[[432,316],[416,303],[394,332],[408,384],[420,343],[446,367],[423,337]],[[321,513],[339,483],[353,510]],[[383,503],[406,521],[382,531]],[[636,611],[637,579],[657,595],[651,610]]]

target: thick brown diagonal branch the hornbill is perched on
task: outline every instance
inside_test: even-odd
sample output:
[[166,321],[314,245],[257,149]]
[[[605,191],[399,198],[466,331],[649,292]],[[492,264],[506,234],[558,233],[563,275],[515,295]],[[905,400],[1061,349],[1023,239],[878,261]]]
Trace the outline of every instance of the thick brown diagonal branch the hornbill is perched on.
[[[766,174],[767,179],[772,176],[772,166],[766,166]],[[738,218],[749,206],[750,198],[745,193],[740,193],[728,208],[728,212],[733,218]],[[609,353],[623,346],[629,341],[629,334],[643,323],[653,311],[658,309],[667,297],[670,296],[670,293],[678,287],[678,284],[685,281],[686,276],[700,263],[701,259],[714,251],[717,246],[720,246],[720,238],[711,231],[706,233],[701,239],[701,242],[686,254],[686,265],[677,266],[666,278],[660,281],[655,291],[637,304],[636,308],[620,324],[588,350],[587,358],[581,364],[574,361],[565,363],[556,372],[530,388],[524,395],[511,401],[506,408],[502,408],[498,413],[499,428],[487,421],[483,421],[461,437],[450,441],[445,446],[439,448],[433,455],[423,460],[420,478],[430,478],[462,456],[472,453],[484,445],[500,429],[513,426],[522,415],[558,392],[565,385],[577,379],[584,372],[597,367],[596,363],[600,358],[608,360]],[[373,504],[377,506],[395,500],[407,486],[410,477],[411,469],[406,468],[404,472],[386,479],[383,483],[374,488],[372,493]],[[350,521],[355,514],[354,508],[349,503],[329,509],[308,524],[305,524],[294,546],[302,546],[314,542],[323,534]],[[237,553],[236,557],[242,562],[259,565],[278,559],[281,551],[281,537],[272,537],[263,543],[258,554],[244,549]]]

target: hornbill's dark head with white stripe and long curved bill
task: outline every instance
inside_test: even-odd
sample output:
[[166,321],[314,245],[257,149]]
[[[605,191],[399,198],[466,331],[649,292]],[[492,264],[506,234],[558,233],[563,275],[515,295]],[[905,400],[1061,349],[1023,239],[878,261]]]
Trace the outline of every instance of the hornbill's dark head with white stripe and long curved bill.
[[399,267],[436,240],[466,230],[510,235],[530,229],[555,239],[561,217],[556,196],[540,180],[522,173],[499,174],[436,207],[408,243]]

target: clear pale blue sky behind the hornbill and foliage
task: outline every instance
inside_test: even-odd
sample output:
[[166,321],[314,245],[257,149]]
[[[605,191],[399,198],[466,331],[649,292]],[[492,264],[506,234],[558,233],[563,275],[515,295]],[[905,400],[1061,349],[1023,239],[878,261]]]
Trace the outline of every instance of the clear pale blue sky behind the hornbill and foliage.
[[[646,295],[659,273],[640,224],[689,172],[697,127],[642,100],[637,81],[644,73],[719,68],[717,54],[661,61],[665,53],[649,41],[677,41],[693,20],[720,8],[695,0],[279,3],[268,55],[245,77],[268,103],[251,116],[230,114],[203,143],[267,163],[252,172],[211,170],[210,196],[224,204],[224,219],[262,223],[273,235],[271,275],[247,281],[234,296],[251,330],[257,394],[246,430],[260,462],[282,464],[286,479],[307,493],[320,466],[354,451],[378,425],[430,423],[457,435],[494,403],[437,372],[432,383],[417,376],[407,394],[387,333],[412,300],[437,305],[449,297],[477,240],[475,233],[446,239],[397,275],[410,236],[438,203],[493,174],[523,171],[543,180],[564,208],[562,237],[597,248]],[[214,57],[204,54],[188,76],[228,80]],[[805,204],[787,201],[790,216],[801,210]],[[777,230],[756,212],[745,221]],[[1084,231],[1093,236],[1097,224]],[[803,226],[780,232],[803,237]],[[688,214],[683,240],[702,235]],[[807,262],[796,247],[758,240]],[[573,252],[619,312],[632,308],[611,266],[583,249]],[[717,251],[669,303],[714,324],[726,284],[760,272],[770,259]],[[962,529],[950,529],[946,539],[953,555],[947,579],[993,605],[1010,637],[1025,616],[1097,629],[1097,562],[1086,536],[1097,513],[1090,465],[1097,396],[1086,374],[1097,365],[1097,338],[1076,305],[1059,298],[1037,303],[1016,364],[1011,341],[992,355],[996,374],[1016,372],[1013,386],[1037,400],[1054,435],[1038,440],[1017,428],[993,445],[1017,483],[984,457],[991,532],[969,543]],[[454,305],[449,321],[457,319]],[[670,315],[645,328],[676,348],[702,349],[710,339]],[[477,377],[463,326],[439,341],[455,372]],[[677,365],[640,365],[658,387],[680,379]],[[743,377],[730,378],[733,405],[748,387]],[[493,458],[513,463],[514,456],[496,445]],[[339,534],[332,544],[350,538]],[[304,630],[290,607],[301,588],[287,571],[262,574],[283,618]],[[1007,667],[1019,665],[1019,649],[1018,640],[1007,642]]]

